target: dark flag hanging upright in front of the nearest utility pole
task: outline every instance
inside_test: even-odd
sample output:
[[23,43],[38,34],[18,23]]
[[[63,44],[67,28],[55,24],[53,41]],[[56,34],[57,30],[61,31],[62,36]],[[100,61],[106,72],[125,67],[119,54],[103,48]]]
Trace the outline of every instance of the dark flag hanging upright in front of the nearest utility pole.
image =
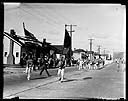
[[69,36],[69,33],[66,29],[64,37],[64,48],[71,48],[71,36]]

